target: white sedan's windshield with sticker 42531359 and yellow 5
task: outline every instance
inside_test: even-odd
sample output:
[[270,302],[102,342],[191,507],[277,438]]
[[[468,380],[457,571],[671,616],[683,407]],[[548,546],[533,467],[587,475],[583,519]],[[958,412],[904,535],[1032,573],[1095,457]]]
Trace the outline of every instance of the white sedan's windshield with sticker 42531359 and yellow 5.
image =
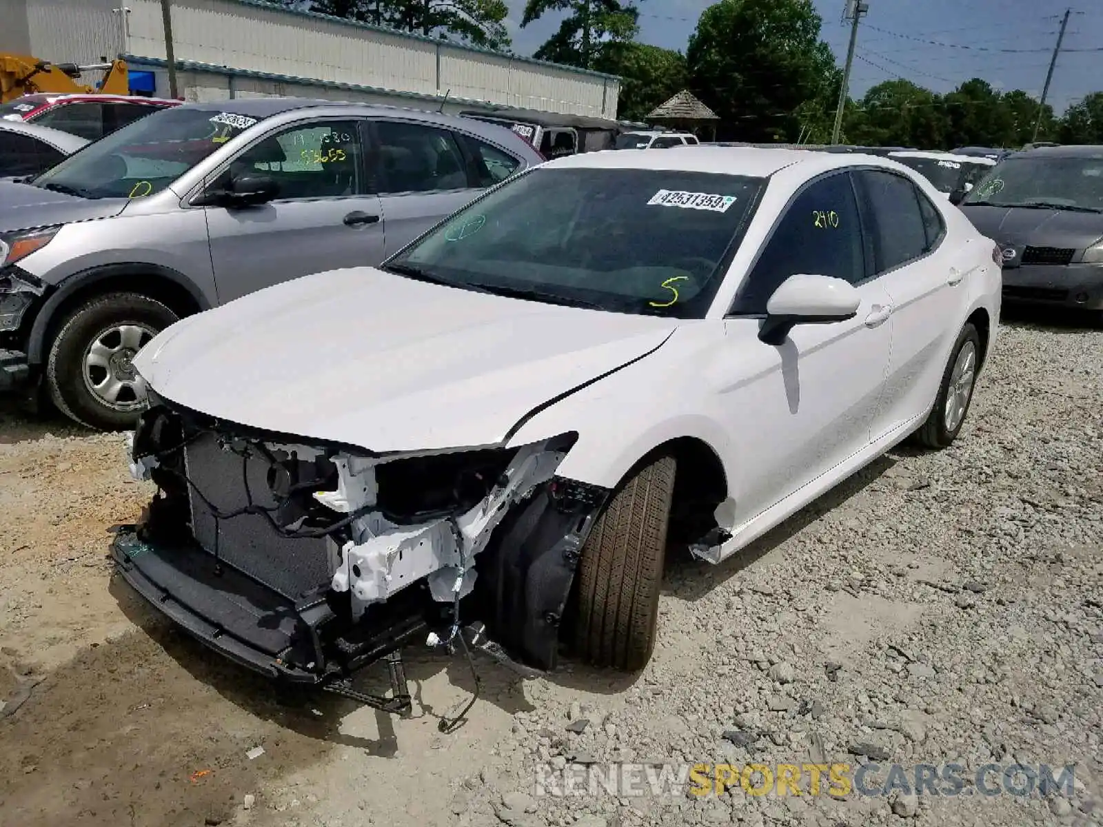
[[553,304],[703,318],[764,184],[678,170],[536,168],[383,269]]

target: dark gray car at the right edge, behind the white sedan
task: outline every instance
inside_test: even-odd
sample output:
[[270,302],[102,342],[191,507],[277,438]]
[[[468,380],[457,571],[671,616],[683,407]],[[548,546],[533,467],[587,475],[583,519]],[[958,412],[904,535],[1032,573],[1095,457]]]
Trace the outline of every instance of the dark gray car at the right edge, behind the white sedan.
[[1103,147],[996,164],[961,208],[1004,251],[1004,301],[1103,311]]

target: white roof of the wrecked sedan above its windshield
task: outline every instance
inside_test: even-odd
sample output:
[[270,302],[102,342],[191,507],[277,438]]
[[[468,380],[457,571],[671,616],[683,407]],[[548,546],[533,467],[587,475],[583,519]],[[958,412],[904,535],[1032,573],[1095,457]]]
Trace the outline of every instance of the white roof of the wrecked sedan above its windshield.
[[662,152],[580,152],[548,161],[543,167],[583,169],[682,170],[727,175],[767,178],[788,167],[800,164],[807,174],[845,167],[886,167],[900,169],[876,155],[843,152],[811,152],[797,149],[758,147],[674,147]]

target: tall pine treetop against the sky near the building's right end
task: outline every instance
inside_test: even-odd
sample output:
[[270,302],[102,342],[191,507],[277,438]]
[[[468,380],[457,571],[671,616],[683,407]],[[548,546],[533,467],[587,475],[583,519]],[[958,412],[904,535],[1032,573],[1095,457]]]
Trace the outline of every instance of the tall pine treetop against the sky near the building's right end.
[[569,13],[536,50],[534,56],[542,61],[597,68],[609,62],[608,52],[630,43],[640,31],[639,10],[629,0],[526,0],[521,25],[553,11]]

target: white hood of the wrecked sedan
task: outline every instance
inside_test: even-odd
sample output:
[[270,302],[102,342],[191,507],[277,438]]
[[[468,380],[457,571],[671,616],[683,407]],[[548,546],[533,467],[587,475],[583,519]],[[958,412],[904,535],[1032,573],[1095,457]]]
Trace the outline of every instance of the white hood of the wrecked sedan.
[[435,450],[503,441],[533,408],[653,351],[676,324],[362,267],[184,319],[135,367],[163,398],[231,422]]

